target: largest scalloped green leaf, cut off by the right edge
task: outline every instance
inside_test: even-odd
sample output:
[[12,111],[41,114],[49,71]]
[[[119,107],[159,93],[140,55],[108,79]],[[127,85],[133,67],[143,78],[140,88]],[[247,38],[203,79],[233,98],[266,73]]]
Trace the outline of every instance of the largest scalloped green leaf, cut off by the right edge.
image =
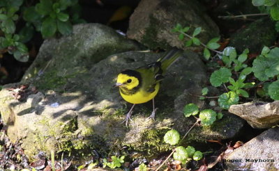
[[269,51],[264,47],[262,54],[252,63],[252,72],[259,81],[267,81],[269,78],[279,74],[279,48],[273,48]]

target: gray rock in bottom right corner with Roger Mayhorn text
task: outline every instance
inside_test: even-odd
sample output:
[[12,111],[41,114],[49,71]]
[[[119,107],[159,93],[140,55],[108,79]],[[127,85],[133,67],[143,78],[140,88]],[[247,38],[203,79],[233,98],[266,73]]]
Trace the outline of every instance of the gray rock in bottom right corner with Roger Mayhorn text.
[[225,157],[228,170],[279,170],[279,128],[269,129]]

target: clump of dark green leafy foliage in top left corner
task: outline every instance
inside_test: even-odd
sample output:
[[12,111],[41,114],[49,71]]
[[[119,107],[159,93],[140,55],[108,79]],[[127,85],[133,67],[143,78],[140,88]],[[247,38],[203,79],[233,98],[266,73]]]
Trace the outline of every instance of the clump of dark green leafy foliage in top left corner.
[[[77,2],[40,0],[23,3],[23,0],[1,0],[0,32],[4,34],[0,37],[0,50],[7,49],[16,60],[27,62],[29,52],[24,43],[31,40],[34,31],[42,33],[43,38],[52,37],[56,33],[68,35],[72,33],[72,23],[84,22],[79,19]],[[34,6],[31,6],[31,3],[35,3]],[[21,30],[17,29],[17,23],[23,23],[24,27]]]

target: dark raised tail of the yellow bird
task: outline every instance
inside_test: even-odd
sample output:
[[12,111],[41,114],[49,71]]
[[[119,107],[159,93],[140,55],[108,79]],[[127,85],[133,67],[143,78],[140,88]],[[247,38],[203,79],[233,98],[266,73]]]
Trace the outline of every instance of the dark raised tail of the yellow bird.
[[167,67],[172,65],[181,55],[183,54],[183,50],[177,49],[176,47],[171,49],[165,56],[159,58],[157,61],[161,62],[161,68],[163,72],[167,70]]

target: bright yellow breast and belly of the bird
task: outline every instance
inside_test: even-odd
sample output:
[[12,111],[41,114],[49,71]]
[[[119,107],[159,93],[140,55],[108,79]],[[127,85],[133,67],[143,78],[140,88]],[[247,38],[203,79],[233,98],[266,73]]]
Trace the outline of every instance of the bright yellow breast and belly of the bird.
[[160,88],[160,83],[157,83],[155,86],[155,90],[153,92],[146,92],[146,91],[140,89],[133,95],[124,95],[120,91],[120,95],[123,97],[123,99],[125,99],[126,101],[128,101],[131,104],[143,104],[143,103],[153,99],[157,95],[159,88]]

